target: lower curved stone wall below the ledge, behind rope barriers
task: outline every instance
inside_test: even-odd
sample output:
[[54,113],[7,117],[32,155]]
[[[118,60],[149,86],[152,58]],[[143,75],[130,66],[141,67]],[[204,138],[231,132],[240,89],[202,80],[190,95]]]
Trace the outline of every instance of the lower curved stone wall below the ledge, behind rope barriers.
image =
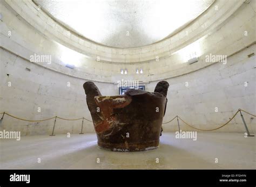
[[[256,53],[256,45],[228,57],[226,64],[215,63],[166,80],[170,88],[164,122],[178,115],[197,128],[211,129],[224,124],[239,108],[255,114],[255,56],[248,57],[252,53]],[[1,56],[0,112],[31,120],[53,116],[91,119],[82,87],[86,80],[45,69],[3,49]],[[95,83],[103,95],[118,94],[116,84]],[[146,83],[146,90],[153,91],[156,84]],[[249,130],[255,132],[255,118],[247,114],[244,117]],[[0,127],[23,135],[50,134],[53,121],[28,123],[5,116]],[[79,133],[81,125],[81,120],[57,119],[55,133]],[[192,130],[181,121],[180,126],[181,130]],[[163,128],[166,132],[177,131],[177,121]],[[84,132],[94,132],[91,122],[84,121]],[[238,114],[230,124],[214,132],[245,132],[245,128]]]

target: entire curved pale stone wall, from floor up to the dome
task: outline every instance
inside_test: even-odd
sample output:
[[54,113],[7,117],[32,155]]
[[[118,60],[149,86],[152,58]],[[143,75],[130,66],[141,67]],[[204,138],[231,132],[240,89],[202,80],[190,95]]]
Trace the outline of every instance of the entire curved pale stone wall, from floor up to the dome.
[[[218,6],[218,11],[222,13],[213,16],[218,3],[223,3]],[[66,40],[67,37],[62,37],[61,32],[48,25],[52,24],[49,18],[41,18],[36,9],[27,10],[35,8],[31,1],[1,1],[0,6],[3,17],[0,21],[0,112],[32,120],[53,116],[69,119],[84,116],[91,119],[82,88],[86,80],[96,82],[104,95],[117,95],[115,83],[121,80],[143,81],[148,91],[153,91],[159,80],[167,80],[171,87],[164,121],[179,115],[191,125],[208,129],[227,121],[238,108],[255,114],[255,56],[247,56],[255,53],[255,1],[216,0],[203,15],[186,27],[191,31],[188,36],[185,35],[187,39],[182,37],[184,32],[181,31],[186,31],[184,28],[166,41],[145,48],[111,48],[111,54],[120,53],[131,59],[134,59],[131,55],[138,52],[136,50],[151,55],[149,60],[135,58],[134,62],[122,61],[120,56],[117,61],[111,61],[113,56],[105,58],[99,50],[104,51],[104,46],[96,44],[90,46],[96,46],[93,53],[100,56],[99,61],[95,59],[96,56],[85,54],[81,47],[85,41],[71,36]],[[35,24],[45,24],[45,27]],[[200,30],[203,27],[207,27],[207,30]],[[55,35],[66,42],[53,38],[45,28],[51,28]],[[59,30],[65,32],[61,28]],[[192,35],[192,32],[195,34]],[[71,38],[78,41],[76,48],[71,46]],[[161,51],[161,45],[170,47],[169,54]],[[199,61],[188,64],[186,55],[191,51],[197,52]],[[51,63],[30,62],[34,54],[50,55]],[[206,56],[210,54],[226,55],[227,63],[206,62]],[[156,55],[159,55],[159,61]],[[65,67],[70,61],[77,62],[78,66],[75,69]],[[120,74],[122,68],[126,68],[128,74]],[[143,74],[136,74],[136,68],[142,68]],[[245,87],[245,82],[248,82],[248,87]],[[38,107],[41,107],[41,112],[38,112]],[[215,107],[218,107],[218,112],[214,111]],[[254,131],[255,119],[246,114],[244,116],[250,130]],[[182,130],[191,130],[180,124]],[[78,133],[81,125],[82,121],[57,119],[55,132]],[[0,122],[0,128],[20,130],[23,135],[50,134],[52,126],[53,120],[27,123],[8,116]],[[176,131],[177,122],[163,127],[165,131]],[[218,131],[244,132],[240,116]],[[94,132],[89,121],[85,121],[84,132]]]

